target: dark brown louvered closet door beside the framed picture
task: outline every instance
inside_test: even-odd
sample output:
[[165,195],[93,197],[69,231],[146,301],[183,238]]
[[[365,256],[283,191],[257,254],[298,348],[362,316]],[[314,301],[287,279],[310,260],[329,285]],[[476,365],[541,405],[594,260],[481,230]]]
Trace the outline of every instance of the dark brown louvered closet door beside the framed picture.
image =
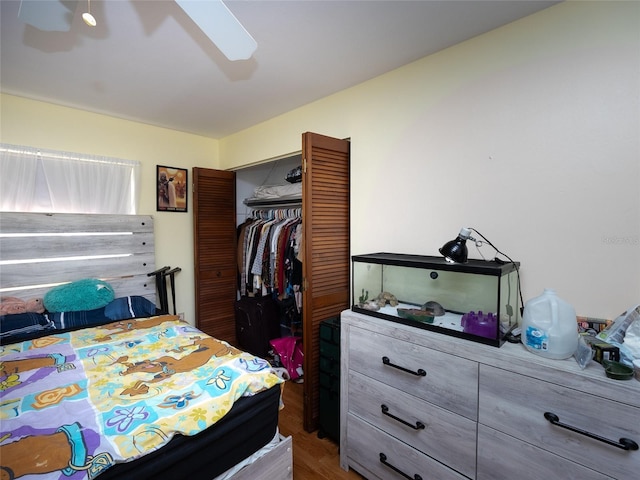
[[196,327],[236,343],[236,174],[193,169]]

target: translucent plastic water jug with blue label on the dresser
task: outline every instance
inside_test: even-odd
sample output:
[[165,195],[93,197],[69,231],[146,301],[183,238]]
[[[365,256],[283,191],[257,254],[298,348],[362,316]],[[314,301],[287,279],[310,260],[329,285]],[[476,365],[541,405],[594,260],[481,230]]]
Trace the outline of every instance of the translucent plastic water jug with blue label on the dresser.
[[576,312],[556,292],[545,288],[542,295],[524,306],[522,343],[527,349],[548,358],[569,358],[578,348]]

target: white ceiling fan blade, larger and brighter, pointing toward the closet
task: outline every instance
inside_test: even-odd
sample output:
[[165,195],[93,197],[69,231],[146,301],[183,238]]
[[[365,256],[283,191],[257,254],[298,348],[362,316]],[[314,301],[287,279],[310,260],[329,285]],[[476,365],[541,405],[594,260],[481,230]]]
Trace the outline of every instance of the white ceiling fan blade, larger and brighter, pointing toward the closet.
[[175,0],[231,61],[247,60],[258,44],[222,0]]

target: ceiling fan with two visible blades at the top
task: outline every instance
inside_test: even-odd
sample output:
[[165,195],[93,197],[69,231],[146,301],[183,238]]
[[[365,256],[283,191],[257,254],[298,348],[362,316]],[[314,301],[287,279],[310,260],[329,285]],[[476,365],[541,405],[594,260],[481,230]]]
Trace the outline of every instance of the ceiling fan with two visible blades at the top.
[[[175,2],[229,60],[247,60],[258,47],[222,0]],[[21,0],[18,18],[39,30],[68,32],[78,3],[80,0]]]

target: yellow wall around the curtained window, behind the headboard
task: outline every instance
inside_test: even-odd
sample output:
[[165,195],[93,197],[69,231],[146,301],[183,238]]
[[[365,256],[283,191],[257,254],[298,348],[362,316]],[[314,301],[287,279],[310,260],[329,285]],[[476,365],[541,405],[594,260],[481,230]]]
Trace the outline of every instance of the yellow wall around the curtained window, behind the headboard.
[[194,166],[219,168],[218,141],[11,95],[2,95],[0,102],[2,143],[141,163],[138,213],[154,217],[156,266],[182,268],[176,275],[176,306],[193,323],[191,189],[188,213],[156,212],[156,165],[186,168],[189,175]]

